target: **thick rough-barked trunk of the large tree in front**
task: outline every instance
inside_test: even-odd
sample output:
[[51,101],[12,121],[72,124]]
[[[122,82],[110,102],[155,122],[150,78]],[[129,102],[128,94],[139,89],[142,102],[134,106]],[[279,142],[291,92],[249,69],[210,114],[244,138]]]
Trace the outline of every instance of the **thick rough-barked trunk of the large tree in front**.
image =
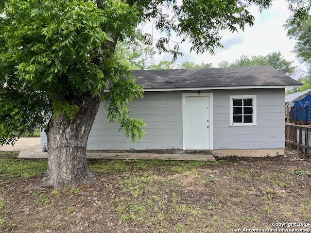
[[79,111],[73,119],[60,115],[51,118],[47,133],[48,168],[43,179],[31,187],[53,186],[75,188],[81,183],[92,183],[95,174],[86,162],[86,143],[88,134],[98,111],[98,97],[82,97]]

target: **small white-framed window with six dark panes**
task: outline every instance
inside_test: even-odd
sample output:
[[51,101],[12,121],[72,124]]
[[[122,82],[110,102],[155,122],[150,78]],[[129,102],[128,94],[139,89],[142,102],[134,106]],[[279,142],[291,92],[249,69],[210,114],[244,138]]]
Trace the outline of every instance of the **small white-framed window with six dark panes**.
[[229,96],[230,126],[257,125],[256,95]]

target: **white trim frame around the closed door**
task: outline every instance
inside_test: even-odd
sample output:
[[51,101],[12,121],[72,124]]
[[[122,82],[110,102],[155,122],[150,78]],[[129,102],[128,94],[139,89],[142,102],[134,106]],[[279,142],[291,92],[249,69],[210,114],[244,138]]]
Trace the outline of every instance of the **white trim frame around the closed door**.
[[182,121],[183,121],[183,150],[186,149],[187,132],[186,132],[186,97],[189,96],[209,96],[209,149],[198,150],[213,150],[213,93],[183,93],[182,94]]

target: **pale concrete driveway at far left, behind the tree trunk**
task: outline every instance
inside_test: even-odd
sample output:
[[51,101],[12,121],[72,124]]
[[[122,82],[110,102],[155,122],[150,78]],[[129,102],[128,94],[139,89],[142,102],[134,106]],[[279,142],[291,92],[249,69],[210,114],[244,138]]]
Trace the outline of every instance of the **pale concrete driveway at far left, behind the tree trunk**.
[[0,151],[41,151],[40,137],[21,137],[15,142],[14,146],[0,146]]

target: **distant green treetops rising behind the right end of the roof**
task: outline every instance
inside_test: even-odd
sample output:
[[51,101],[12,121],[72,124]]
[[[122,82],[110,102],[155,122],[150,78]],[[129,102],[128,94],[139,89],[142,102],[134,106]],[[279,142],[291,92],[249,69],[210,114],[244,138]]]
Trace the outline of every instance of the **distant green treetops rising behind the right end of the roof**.
[[235,60],[232,63],[222,61],[218,64],[220,67],[256,67],[256,66],[268,66],[272,67],[284,74],[292,75],[295,67],[292,61],[287,61],[283,58],[281,52],[269,53],[266,56],[248,56],[242,55],[240,59]]

